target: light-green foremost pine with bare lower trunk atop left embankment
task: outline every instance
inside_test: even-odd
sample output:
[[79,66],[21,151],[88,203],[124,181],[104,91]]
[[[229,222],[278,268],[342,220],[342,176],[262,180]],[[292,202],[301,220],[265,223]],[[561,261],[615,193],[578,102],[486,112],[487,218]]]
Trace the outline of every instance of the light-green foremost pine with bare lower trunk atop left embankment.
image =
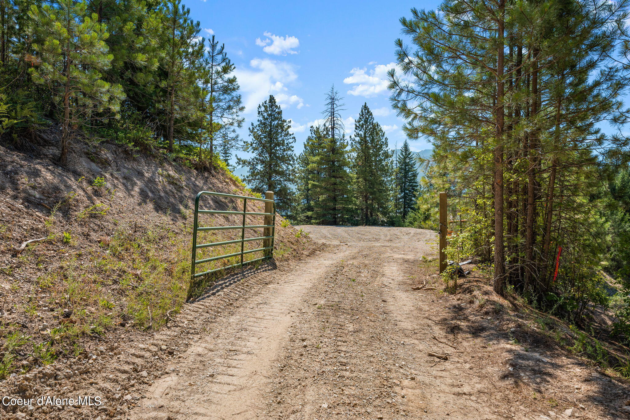
[[[32,6],[33,28],[43,38],[34,44],[37,67],[33,81],[50,89],[61,122],[61,153],[66,163],[68,145],[81,123],[96,113],[116,116],[122,100],[120,85],[103,80],[112,55],[105,43],[108,33],[96,14],[86,14],[85,2],[55,0],[41,8]],[[108,114],[107,114],[108,113]]]

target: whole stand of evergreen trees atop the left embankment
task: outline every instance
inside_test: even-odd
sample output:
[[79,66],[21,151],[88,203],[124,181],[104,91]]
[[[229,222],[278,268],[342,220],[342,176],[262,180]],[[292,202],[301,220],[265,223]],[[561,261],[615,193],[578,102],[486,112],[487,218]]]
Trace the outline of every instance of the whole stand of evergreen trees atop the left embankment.
[[[178,0],[72,7],[64,13],[62,0],[0,0],[1,141],[32,150],[52,120],[62,127],[64,156],[69,139],[98,137],[136,150],[166,144],[207,166],[202,155],[214,158],[215,144],[243,146],[234,65],[216,39],[205,48],[199,24]],[[66,73],[69,86],[61,81]]]

